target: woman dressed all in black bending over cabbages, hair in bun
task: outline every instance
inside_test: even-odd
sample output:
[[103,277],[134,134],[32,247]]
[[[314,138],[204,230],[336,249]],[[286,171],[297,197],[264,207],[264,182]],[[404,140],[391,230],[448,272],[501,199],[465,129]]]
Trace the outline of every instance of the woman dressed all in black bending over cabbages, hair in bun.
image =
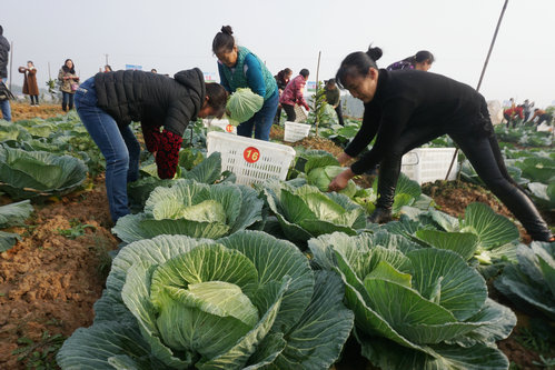
[[353,52],[337,71],[339,86],[365,106],[360,130],[338,156],[339,162],[358,156],[377,137],[371,150],[339,173],[329,190],[345,188],[349,179],[379,163],[378,200],[370,221],[388,221],[403,154],[447,133],[531,237],[553,241],[534,203],[507,173],[484,97],[440,74],[378,69],[376,60],[380,57],[379,48]]

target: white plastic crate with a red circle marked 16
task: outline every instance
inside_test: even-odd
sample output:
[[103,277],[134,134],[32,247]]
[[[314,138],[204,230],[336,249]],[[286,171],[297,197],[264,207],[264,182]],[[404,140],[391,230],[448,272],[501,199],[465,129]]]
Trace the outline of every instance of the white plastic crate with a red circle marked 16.
[[221,153],[221,170],[237,176],[237,183],[260,183],[267,179],[285,180],[295,149],[257,139],[208,132],[208,156]]

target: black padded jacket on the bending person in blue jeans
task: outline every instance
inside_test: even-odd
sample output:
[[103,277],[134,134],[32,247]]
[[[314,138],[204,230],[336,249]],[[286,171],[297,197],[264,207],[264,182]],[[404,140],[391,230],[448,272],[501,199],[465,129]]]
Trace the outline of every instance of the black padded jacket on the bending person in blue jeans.
[[197,119],[206,96],[198,68],[180,71],[174,79],[143,71],[100,72],[95,76],[95,90],[97,106],[118,124],[161,124],[179,136]]

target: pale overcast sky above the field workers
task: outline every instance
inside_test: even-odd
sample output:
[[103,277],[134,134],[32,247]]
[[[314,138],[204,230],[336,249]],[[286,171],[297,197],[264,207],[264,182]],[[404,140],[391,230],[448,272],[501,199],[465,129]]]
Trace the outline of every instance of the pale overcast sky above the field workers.
[[[222,24],[275,74],[289,67],[335,74],[370,42],[379,67],[429,50],[433,72],[476,87],[504,0],[1,0],[0,24],[17,67],[34,61],[40,87],[71,58],[82,79],[105,64],[217,76],[211,42]],[[555,104],[555,0],[509,0],[480,92],[488,100]],[[19,91],[16,91],[19,92]]]

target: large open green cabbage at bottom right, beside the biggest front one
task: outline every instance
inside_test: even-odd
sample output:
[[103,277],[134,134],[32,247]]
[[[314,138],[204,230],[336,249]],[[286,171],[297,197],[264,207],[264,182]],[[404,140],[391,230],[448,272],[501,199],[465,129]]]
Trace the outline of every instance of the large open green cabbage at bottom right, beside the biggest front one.
[[345,282],[356,337],[381,369],[507,369],[495,341],[515,314],[487,298],[482,276],[449,250],[399,244],[379,233],[309,241],[315,263]]

